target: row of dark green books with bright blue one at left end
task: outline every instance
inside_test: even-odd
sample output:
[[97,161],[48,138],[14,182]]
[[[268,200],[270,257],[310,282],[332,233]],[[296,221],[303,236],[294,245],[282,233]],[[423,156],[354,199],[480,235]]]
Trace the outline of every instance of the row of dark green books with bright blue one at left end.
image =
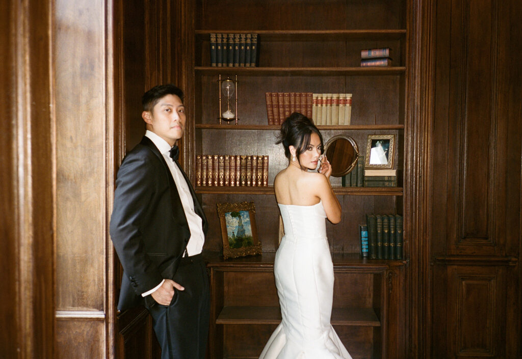
[[370,259],[402,259],[402,216],[366,214],[359,225],[361,255]]

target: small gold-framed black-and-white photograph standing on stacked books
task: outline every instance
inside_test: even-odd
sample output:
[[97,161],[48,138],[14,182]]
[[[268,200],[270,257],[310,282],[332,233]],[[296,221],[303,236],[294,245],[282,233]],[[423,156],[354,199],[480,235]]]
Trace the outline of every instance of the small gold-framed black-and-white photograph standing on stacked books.
[[368,135],[364,168],[393,168],[395,135]]

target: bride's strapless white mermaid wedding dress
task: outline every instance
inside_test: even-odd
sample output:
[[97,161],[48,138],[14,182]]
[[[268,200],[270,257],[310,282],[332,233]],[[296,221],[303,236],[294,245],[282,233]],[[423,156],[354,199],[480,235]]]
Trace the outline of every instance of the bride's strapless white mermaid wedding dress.
[[274,272],[282,321],[259,359],[351,359],[330,324],[334,267],[323,204],[279,210],[284,236]]

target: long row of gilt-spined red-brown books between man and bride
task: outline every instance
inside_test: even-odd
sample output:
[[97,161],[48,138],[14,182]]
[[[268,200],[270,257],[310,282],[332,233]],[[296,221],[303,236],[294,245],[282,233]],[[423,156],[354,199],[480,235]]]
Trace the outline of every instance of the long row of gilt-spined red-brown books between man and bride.
[[196,186],[267,187],[268,155],[196,155]]

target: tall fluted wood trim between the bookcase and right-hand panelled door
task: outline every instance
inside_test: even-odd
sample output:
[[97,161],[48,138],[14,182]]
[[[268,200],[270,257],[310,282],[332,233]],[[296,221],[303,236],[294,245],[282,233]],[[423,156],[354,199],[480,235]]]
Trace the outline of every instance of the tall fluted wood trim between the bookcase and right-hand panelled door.
[[[407,110],[405,124],[404,223],[409,357],[429,357],[431,346],[430,234],[432,232],[432,133],[435,0],[408,3]],[[424,151],[423,149],[430,149]]]

